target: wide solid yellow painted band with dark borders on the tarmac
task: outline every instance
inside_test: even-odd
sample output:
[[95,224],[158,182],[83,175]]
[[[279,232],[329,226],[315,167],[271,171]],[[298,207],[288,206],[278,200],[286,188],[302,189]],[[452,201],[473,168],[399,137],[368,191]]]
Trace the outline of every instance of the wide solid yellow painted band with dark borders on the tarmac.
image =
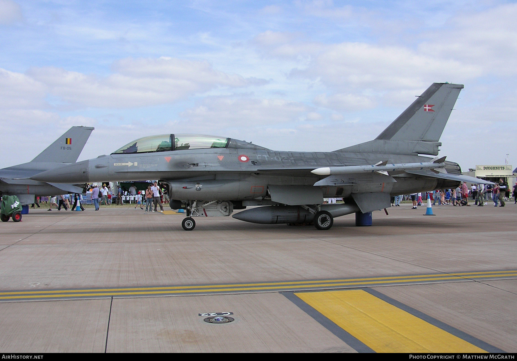
[[363,290],[295,294],[375,352],[486,352]]

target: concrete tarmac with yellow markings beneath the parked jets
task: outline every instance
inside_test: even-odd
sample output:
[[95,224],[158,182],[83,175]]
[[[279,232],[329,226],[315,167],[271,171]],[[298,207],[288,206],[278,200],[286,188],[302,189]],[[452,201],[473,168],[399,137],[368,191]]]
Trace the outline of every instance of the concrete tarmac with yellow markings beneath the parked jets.
[[328,231],[31,209],[0,224],[0,349],[517,352],[517,205],[470,204]]

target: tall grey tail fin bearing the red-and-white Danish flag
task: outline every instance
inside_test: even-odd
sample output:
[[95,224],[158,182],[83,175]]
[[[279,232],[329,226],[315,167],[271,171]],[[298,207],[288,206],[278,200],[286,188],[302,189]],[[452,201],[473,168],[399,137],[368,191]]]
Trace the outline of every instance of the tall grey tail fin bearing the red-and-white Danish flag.
[[433,83],[374,140],[339,151],[437,155],[461,89],[462,84]]

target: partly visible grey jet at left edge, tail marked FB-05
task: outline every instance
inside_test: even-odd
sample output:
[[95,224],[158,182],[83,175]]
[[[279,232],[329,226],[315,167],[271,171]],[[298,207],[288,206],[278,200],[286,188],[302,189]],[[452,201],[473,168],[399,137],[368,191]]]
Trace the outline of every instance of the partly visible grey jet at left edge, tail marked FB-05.
[[94,128],[72,127],[31,162],[0,169],[0,195],[16,195],[21,205],[34,203],[35,196],[82,193],[81,187],[62,182],[28,179],[45,171],[75,163]]

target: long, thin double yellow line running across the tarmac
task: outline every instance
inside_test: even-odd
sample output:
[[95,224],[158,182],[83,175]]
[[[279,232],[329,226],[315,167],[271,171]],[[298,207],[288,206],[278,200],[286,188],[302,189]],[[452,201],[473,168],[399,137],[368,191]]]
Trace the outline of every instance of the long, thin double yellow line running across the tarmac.
[[[479,272],[478,272],[479,273]],[[490,277],[514,277],[517,273],[503,275],[489,275]],[[486,277],[486,275],[471,276],[470,278]],[[381,277],[379,277],[381,278]],[[392,277],[394,278],[394,277]],[[413,279],[391,279],[379,280],[374,282],[328,282],[326,284],[311,285],[303,282],[275,282],[269,287],[256,287],[256,285],[268,284],[248,284],[248,285],[208,285],[208,286],[174,286],[174,287],[149,287],[149,288],[113,288],[113,289],[92,289],[92,290],[48,290],[48,291],[21,291],[21,292],[1,292],[0,300],[12,299],[40,299],[40,298],[58,298],[58,297],[85,297],[85,296],[109,296],[109,295],[153,295],[153,294],[180,294],[180,293],[214,293],[228,291],[264,291],[278,289],[293,288],[312,288],[312,287],[346,287],[346,286],[367,286],[367,285],[386,285],[386,284],[404,284],[409,282],[433,281],[433,280],[451,280],[460,279],[458,277],[435,277],[435,278],[413,278]],[[300,283],[302,285],[300,285]],[[273,285],[273,283],[271,284]],[[248,287],[242,287],[248,286]],[[124,292],[125,291],[125,292]],[[132,292],[130,292],[132,291]],[[8,296],[11,295],[11,296]]]

